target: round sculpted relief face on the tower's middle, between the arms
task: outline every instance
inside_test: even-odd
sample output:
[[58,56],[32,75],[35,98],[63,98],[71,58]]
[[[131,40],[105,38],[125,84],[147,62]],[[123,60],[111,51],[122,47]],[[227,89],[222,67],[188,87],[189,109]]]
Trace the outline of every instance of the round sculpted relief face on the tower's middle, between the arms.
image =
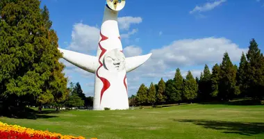
[[124,54],[118,49],[108,51],[104,56],[104,67],[109,71],[122,71],[125,67]]

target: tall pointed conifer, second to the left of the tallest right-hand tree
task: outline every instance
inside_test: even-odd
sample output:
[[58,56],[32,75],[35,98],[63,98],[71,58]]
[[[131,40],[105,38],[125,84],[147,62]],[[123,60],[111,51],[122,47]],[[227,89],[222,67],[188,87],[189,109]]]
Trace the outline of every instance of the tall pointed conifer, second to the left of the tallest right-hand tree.
[[220,86],[219,95],[224,100],[233,99],[240,94],[236,85],[236,67],[233,66],[227,52],[224,53],[222,64],[220,65]]

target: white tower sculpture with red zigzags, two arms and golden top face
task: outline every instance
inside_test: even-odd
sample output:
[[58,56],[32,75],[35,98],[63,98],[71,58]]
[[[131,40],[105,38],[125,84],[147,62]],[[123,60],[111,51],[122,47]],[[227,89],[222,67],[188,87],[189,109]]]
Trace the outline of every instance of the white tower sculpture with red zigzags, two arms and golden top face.
[[125,58],[123,54],[117,15],[125,3],[125,0],[106,0],[97,56],[59,49],[69,63],[95,74],[94,110],[128,109],[126,73],[135,70],[151,56],[147,54]]

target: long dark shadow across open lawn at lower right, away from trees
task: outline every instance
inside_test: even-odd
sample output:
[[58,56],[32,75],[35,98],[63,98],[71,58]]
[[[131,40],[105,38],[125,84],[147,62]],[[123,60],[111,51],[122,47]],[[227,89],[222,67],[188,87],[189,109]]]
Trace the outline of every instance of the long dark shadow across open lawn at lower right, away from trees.
[[240,135],[251,136],[264,133],[264,123],[261,122],[226,122],[211,120],[176,120],[175,122],[191,122],[206,129],[222,130],[223,133],[238,133]]

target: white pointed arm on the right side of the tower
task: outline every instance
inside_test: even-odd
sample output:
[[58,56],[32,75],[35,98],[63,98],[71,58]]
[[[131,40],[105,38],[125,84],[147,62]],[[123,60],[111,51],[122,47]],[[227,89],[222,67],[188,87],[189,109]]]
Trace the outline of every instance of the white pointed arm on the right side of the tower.
[[143,56],[133,56],[126,58],[126,72],[131,72],[137,67],[145,63],[152,54],[146,54]]

